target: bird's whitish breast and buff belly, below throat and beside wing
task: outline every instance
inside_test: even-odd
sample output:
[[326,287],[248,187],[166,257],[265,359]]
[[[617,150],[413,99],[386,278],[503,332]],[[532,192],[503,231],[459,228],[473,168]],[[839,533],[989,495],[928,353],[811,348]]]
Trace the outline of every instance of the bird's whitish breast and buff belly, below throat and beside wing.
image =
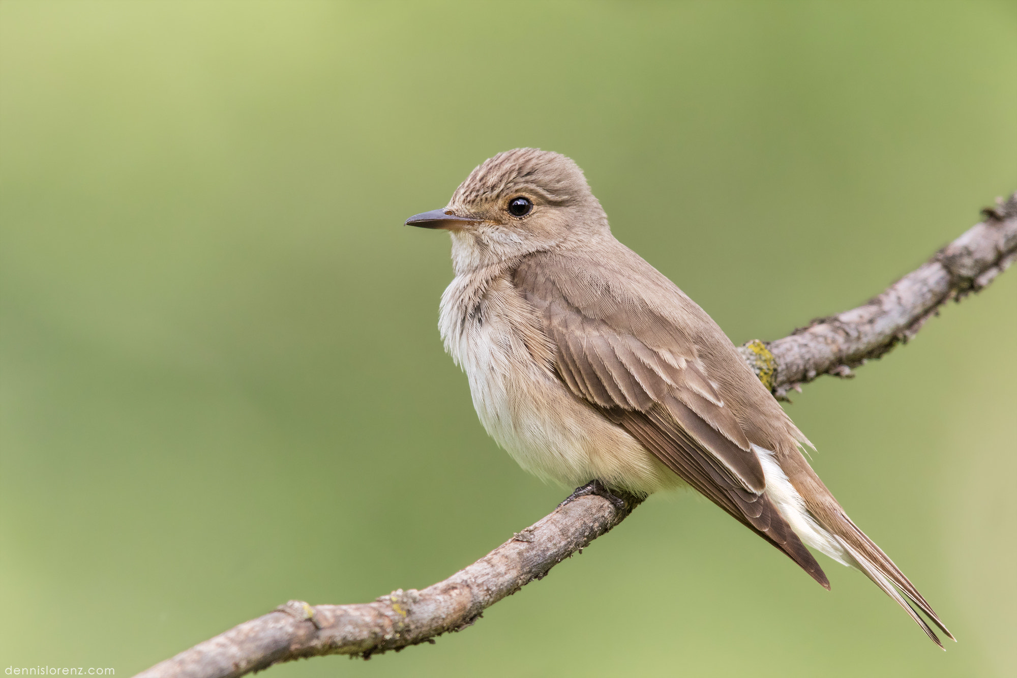
[[526,326],[533,310],[498,273],[457,276],[441,296],[438,322],[445,350],[470,381],[473,406],[487,433],[525,470],[569,487],[594,478],[647,493],[681,485],[636,439],[534,358]]

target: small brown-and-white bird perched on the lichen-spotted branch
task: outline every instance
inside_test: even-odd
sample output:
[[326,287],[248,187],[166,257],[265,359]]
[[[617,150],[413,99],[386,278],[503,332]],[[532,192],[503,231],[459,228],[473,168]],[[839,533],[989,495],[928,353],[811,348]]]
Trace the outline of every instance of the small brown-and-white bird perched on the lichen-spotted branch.
[[575,161],[499,153],[406,225],[451,233],[444,348],[525,470],[576,486],[570,500],[621,505],[692,487],[825,588],[806,547],[860,570],[941,648],[934,625],[954,639],[810,466],[815,446],[723,330],[611,234]]

